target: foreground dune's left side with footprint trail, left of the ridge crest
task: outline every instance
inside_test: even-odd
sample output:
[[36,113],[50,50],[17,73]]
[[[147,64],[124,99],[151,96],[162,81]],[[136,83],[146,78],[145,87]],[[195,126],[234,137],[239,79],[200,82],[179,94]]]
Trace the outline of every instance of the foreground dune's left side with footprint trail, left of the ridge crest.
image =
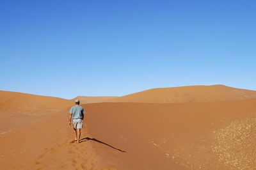
[[[67,112],[0,135],[1,169],[115,169],[97,156],[92,146],[101,143],[82,131],[77,144],[68,127]],[[85,138],[88,139],[85,139]]]

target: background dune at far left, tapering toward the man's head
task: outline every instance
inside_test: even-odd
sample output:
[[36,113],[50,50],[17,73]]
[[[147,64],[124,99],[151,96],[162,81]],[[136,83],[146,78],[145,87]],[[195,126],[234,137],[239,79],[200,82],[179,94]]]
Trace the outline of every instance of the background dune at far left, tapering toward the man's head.
[[63,98],[0,91],[0,134],[42,120],[73,104]]

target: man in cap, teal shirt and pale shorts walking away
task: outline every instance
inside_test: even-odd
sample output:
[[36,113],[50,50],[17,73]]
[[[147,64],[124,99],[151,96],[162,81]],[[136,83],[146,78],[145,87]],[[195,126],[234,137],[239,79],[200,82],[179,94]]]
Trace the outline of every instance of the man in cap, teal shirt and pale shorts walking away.
[[68,125],[71,126],[71,118],[73,117],[73,127],[74,127],[74,132],[76,134],[76,139],[77,143],[80,143],[80,135],[81,135],[81,128],[83,128],[83,120],[84,120],[84,108],[80,106],[80,101],[75,100],[76,105],[71,107],[69,113],[69,123]]

